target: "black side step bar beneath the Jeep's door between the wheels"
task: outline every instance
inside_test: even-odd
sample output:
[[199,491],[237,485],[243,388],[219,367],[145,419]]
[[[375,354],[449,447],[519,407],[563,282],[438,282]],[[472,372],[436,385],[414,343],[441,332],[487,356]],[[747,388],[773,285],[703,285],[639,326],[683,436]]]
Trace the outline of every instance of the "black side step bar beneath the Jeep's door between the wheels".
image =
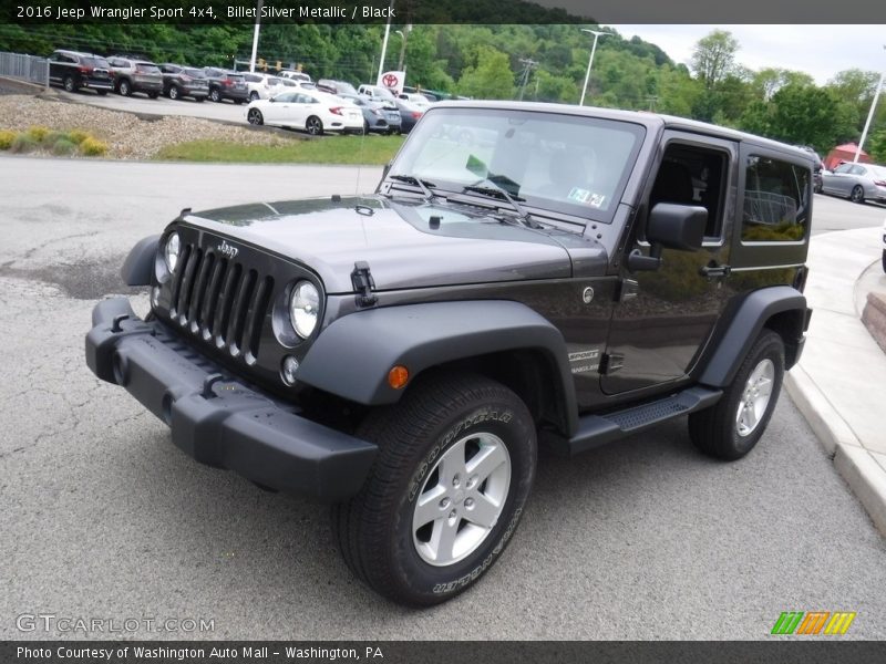
[[550,432],[542,432],[540,436],[554,452],[573,456],[630,436],[668,419],[712,406],[722,395],[722,390],[689,387],[641,406],[631,406],[606,415],[579,417],[578,432],[571,438],[564,438]]

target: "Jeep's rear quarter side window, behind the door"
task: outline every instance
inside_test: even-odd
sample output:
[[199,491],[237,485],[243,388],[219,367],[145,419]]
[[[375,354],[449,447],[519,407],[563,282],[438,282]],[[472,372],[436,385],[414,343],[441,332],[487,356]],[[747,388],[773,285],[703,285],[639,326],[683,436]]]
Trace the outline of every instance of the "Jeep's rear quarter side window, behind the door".
[[745,170],[741,239],[802,240],[808,229],[810,170],[751,155]]

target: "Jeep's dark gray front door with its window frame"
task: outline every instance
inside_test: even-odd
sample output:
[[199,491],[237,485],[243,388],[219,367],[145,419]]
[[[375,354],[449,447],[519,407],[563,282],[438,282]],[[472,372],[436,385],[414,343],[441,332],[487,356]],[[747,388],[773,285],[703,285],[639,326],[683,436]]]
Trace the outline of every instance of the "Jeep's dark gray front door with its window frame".
[[627,252],[648,255],[643,228],[657,203],[701,206],[708,222],[701,248],[663,249],[658,268],[631,272],[622,261],[600,387],[618,395],[688,377],[725,307],[738,145],[664,133],[664,148],[638,207]]

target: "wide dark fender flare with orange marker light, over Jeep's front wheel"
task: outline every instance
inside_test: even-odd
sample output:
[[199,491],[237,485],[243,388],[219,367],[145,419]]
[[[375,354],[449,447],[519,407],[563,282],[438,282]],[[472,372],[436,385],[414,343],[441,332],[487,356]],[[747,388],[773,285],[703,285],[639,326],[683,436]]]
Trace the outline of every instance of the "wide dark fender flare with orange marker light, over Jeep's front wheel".
[[410,380],[436,365],[503,351],[542,353],[558,382],[565,427],[578,426],[575,383],[557,328],[525,304],[508,300],[427,302],[368,309],[322,330],[305,355],[298,380],[364,405],[394,404],[403,390],[388,384],[394,365]]

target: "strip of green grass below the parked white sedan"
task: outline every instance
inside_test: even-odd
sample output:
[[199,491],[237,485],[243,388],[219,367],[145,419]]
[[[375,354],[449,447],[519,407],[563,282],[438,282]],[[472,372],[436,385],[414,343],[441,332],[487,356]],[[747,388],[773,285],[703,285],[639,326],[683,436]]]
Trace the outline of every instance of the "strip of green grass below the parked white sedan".
[[396,154],[403,139],[404,136],[326,136],[312,141],[287,141],[281,145],[190,141],[167,145],[154,158],[164,162],[383,165]]

